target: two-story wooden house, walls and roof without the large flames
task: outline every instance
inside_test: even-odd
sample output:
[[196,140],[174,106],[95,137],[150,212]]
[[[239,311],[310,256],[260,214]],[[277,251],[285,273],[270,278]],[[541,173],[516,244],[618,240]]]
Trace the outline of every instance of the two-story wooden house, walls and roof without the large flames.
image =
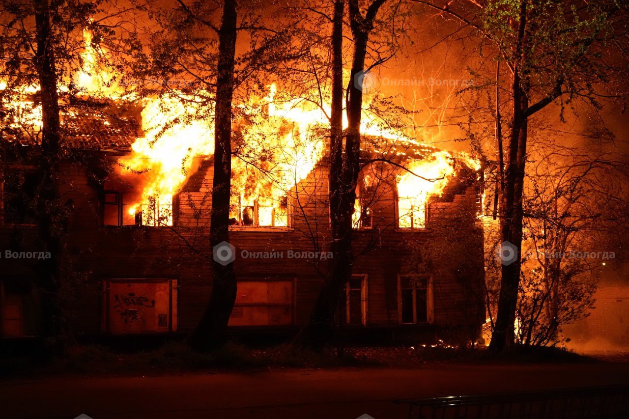
[[[111,168],[132,158],[135,128],[113,129],[118,125],[107,118],[78,117],[66,117],[64,126],[65,147],[80,156],[64,162],[60,178],[70,208],[64,298],[72,329],[86,337],[189,332],[212,287],[212,157],[201,159],[168,204],[142,203],[134,213],[137,191]],[[36,152],[33,143],[20,147]],[[412,157],[429,159],[432,152],[417,148]],[[5,159],[0,178],[3,338],[38,335],[42,316],[34,281],[42,249],[28,208],[35,168],[28,163],[30,152],[19,153],[26,157],[15,164]],[[395,158],[401,167],[411,157]],[[475,222],[479,179],[475,170],[453,161],[454,174],[440,196],[427,196],[419,206],[401,193],[398,165],[382,169],[386,162],[374,163],[370,181],[360,182],[357,260],[337,319],[344,333],[372,342],[478,335],[484,321],[482,228]],[[230,244],[238,295],[231,330],[289,335],[308,318],[329,256],[328,170],[323,157],[272,204],[262,194],[246,200],[234,194]],[[448,226],[447,240],[469,243],[465,252],[448,252],[446,238],[436,237]],[[431,241],[440,242],[441,250],[427,251]]]

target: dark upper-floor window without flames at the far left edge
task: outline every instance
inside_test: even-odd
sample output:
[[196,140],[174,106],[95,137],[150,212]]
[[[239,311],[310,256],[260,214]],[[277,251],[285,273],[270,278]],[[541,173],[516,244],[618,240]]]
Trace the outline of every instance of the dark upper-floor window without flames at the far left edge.
[[35,196],[37,181],[34,169],[9,169],[2,187],[3,222],[36,224]]

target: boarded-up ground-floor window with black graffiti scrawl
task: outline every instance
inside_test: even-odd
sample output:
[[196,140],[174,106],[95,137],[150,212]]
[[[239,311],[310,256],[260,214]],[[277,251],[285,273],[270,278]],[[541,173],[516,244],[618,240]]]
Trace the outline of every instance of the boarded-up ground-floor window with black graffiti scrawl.
[[104,287],[103,328],[107,332],[177,330],[176,280],[109,279]]

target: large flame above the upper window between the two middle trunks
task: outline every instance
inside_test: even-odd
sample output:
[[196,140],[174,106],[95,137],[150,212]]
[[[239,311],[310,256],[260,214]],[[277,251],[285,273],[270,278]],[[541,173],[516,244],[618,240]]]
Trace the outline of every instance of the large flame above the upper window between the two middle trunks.
[[[287,226],[287,199],[308,177],[325,152],[318,129],[320,109],[297,99],[274,102],[276,86],[243,128],[243,145],[232,159],[232,216],[241,225]],[[252,217],[245,219],[249,211]]]

